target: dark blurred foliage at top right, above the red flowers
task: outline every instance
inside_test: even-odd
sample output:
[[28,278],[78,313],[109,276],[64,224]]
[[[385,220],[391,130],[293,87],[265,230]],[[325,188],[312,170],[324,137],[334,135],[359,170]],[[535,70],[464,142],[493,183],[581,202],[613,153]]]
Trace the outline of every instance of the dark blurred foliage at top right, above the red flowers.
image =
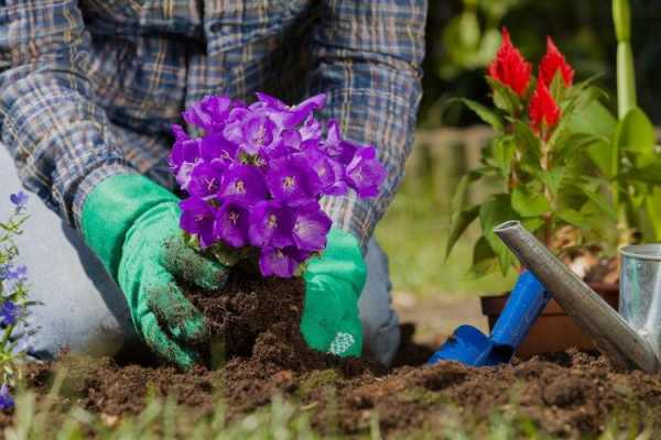
[[[610,1],[429,0],[429,4],[424,98],[419,118],[423,128],[477,122],[460,106],[443,112],[443,103],[452,96],[488,102],[484,72],[496,54],[503,25],[529,61],[539,62],[545,36],[551,35],[575,67],[578,80],[600,75],[600,86],[615,90]],[[631,10],[639,105],[659,124],[661,1],[631,0]]]

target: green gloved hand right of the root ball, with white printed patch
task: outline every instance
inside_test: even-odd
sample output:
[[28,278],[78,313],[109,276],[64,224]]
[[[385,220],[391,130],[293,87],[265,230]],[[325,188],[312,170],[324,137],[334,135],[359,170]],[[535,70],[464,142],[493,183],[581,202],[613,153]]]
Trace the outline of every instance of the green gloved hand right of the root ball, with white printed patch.
[[367,268],[358,241],[339,229],[328,233],[328,244],[303,274],[305,305],[301,332],[307,344],[339,356],[359,356],[362,326],[358,298]]

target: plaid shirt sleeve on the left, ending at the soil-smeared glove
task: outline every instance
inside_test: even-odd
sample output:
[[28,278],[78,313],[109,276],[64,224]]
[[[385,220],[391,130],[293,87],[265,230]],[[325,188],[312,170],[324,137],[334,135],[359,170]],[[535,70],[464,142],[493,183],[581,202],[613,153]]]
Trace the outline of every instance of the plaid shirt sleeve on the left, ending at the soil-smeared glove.
[[76,0],[0,1],[0,141],[23,185],[75,227],[98,182],[136,173],[95,105],[89,47]]

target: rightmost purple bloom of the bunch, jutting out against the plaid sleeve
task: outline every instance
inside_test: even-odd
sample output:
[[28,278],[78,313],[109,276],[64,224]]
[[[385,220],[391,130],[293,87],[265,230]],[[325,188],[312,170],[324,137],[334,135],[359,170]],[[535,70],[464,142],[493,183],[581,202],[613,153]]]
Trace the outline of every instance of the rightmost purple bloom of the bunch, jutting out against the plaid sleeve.
[[377,160],[373,146],[358,150],[346,169],[347,183],[361,198],[378,196],[387,176],[388,172]]

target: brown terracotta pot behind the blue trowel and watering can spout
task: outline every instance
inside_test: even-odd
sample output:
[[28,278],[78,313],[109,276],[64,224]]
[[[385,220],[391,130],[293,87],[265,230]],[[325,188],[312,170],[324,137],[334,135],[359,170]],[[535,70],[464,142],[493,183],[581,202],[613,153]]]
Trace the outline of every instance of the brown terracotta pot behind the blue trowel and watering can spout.
[[[614,309],[618,309],[619,288],[617,284],[590,283],[589,286]],[[484,296],[480,298],[483,315],[489,320],[489,331],[494,329],[508,295]],[[529,359],[534,354],[564,351],[575,346],[579,350],[595,350],[593,341],[574,323],[563,308],[551,299],[542,315],[534,322],[528,337],[517,350],[517,356]]]

